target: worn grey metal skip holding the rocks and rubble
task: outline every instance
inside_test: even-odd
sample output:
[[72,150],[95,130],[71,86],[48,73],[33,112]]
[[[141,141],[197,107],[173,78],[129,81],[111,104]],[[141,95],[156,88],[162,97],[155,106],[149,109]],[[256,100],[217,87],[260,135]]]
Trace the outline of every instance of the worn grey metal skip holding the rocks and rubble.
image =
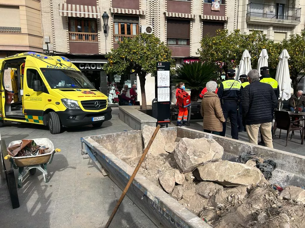
[[[305,182],[305,156],[186,128],[163,128],[160,131],[168,142],[177,141],[179,138],[214,139],[224,147],[222,160],[235,161],[235,158],[245,151],[253,151],[259,157],[271,159],[277,164],[277,168],[272,172],[272,179],[269,180],[271,183],[276,180],[283,185],[299,186]],[[87,153],[99,168],[105,169],[109,177],[124,189],[134,168],[121,159],[134,158],[142,154],[142,131],[88,136],[81,138],[81,142],[82,153]],[[141,174],[135,176],[127,195],[158,227],[211,227]]]

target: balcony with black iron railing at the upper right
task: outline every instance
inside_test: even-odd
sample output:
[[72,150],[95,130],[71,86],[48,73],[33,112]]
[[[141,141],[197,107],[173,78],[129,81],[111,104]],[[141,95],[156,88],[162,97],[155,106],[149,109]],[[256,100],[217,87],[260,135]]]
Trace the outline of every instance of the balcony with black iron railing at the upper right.
[[293,27],[300,23],[301,9],[283,5],[249,3],[246,22],[275,26]]

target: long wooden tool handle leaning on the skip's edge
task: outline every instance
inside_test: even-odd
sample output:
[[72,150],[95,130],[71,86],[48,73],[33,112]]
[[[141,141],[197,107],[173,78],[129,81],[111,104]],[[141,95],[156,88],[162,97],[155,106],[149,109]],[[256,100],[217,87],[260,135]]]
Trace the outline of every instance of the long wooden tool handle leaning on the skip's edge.
[[124,188],[124,191],[122,192],[122,195],[121,195],[119,201],[117,202],[117,206],[115,206],[115,208],[114,208],[114,210],[113,210],[113,212],[112,212],[110,218],[108,219],[108,222],[106,223],[105,228],[108,228],[108,227],[109,227],[109,225],[110,225],[110,223],[111,223],[111,221],[112,221],[114,215],[117,213],[117,209],[119,209],[119,206],[120,206],[121,202],[123,201],[123,199],[124,199],[124,197],[125,197],[125,195],[126,195],[126,192],[127,192],[128,188],[129,188],[130,185],[131,185],[131,182],[132,182],[133,179],[135,178],[135,175],[137,174],[137,172],[138,172],[138,170],[139,170],[139,168],[140,168],[140,166],[141,166],[141,164],[142,164],[142,162],[143,162],[143,160],[144,160],[144,158],[145,158],[145,156],[146,156],[146,154],[147,154],[147,152],[148,152],[150,146],[152,145],[152,142],[153,142],[153,140],[155,139],[155,137],[156,137],[156,135],[157,135],[159,129],[160,129],[160,125],[158,124],[158,126],[156,127],[156,130],[155,130],[154,133],[152,134],[152,137],[150,138],[150,140],[149,140],[149,142],[148,142],[148,144],[147,144],[145,150],[143,151],[143,154],[142,154],[142,156],[141,156],[140,161],[138,162],[138,165],[137,165],[136,168],[135,168],[135,171],[134,171],[133,174],[131,175],[131,177],[130,177],[130,179],[129,179],[127,185],[126,185],[126,187]]

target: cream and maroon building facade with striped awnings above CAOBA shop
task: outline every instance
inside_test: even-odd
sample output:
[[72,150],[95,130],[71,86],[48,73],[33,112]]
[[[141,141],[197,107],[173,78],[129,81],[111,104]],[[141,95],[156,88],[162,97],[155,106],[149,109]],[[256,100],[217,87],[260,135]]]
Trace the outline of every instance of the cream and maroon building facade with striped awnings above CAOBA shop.
[[[237,27],[237,2],[220,0],[219,7],[213,9],[211,0],[41,0],[44,43],[49,42],[48,51],[69,57],[96,88],[107,93],[107,82],[111,83],[114,77],[102,69],[107,62],[104,55],[117,48],[124,37],[154,33],[172,50],[179,66],[198,60],[196,52],[207,33],[213,35],[217,29]],[[109,15],[107,33],[104,12]],[[135,75],[130,76],[131,85],[137,81]],[[154,87],[154,78],[148,75],[148,104],[155,98]],[[140,87],[137,88],[140,94]]]

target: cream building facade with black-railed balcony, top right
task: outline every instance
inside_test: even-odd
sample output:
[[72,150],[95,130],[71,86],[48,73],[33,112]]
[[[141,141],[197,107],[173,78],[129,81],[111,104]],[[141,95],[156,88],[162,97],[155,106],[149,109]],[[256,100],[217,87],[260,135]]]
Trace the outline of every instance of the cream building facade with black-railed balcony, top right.
[[240,0],[237,27],[261,31],[275,42],[300,33],[305,23],[304,0]]

